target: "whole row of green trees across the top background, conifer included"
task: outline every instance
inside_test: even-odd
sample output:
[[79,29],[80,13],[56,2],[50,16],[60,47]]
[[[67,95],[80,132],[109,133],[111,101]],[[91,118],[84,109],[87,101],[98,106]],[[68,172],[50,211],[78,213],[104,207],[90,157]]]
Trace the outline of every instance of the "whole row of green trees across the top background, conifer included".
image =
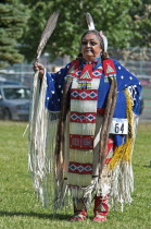
[[87,29],[86,12],[114,48],[151,47],[150,0],[1,0],[0,68],[33,61],[49,15],[60,11],[56,28],[45,51],[53,60],[79,52]]

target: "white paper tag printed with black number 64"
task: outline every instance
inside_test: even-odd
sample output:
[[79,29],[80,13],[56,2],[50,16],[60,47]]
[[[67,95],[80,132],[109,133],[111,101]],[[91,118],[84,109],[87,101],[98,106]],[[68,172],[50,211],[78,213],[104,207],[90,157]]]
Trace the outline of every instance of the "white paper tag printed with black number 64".
[[113,118],[111,123],[110,133],[112,134],[127,134],[128,133],[128,120]]

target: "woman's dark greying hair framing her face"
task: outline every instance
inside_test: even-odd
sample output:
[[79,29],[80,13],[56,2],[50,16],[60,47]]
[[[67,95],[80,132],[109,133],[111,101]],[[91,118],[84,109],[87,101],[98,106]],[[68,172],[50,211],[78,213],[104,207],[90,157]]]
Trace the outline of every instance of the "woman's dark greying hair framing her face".
[[[83,40],[83,38],[84,38],[87,34],[95,34],[95,35],[97,36],[97,38],[98,38],[99,41],[100,41],[100,47],[101,47],[101,49],[102,49],[102,56],[101,56],[102,60],[109,59],[108,52],[104,51],[103,38],[100,36],[99,32],[96,31],[96,29],[95,29],[95,31],[86,31],[86,32],[83,34],[80,41]],[[83,57],[83,55],[79,53],[78,57]]]

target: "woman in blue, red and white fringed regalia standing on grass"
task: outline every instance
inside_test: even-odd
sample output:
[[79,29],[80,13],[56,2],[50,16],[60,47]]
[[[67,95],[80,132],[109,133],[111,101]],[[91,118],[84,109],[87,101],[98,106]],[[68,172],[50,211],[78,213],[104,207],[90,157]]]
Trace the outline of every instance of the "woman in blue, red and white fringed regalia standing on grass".
[[34,185],[43,205],[53,198],[54,209],[65,205],[70,191],[71,221],[85,220],[92,200],[93,220],[105,221],[109,202],[130,203],[134,189],[141,86],[109,58],[106,37],[92,21],[88,26],[76,60],[56,73],[34,65],[39,75],[30,119]]

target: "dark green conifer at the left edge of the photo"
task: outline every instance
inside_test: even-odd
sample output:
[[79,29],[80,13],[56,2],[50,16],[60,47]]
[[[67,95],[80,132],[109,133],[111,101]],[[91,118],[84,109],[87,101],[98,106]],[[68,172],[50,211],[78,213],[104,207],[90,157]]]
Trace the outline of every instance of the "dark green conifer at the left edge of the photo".
[[0,3],[0,68],[23,61],[17,49],[26,22],[25,5],[18,0],[1,0]]

